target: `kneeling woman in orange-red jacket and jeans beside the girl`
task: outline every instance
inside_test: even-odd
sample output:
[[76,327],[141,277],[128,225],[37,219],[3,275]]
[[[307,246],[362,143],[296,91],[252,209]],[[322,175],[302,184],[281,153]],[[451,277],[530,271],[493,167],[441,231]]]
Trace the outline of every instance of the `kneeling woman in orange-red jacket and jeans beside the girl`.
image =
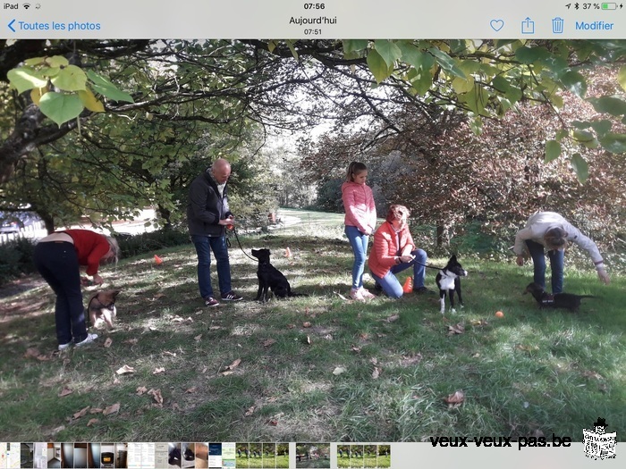
[[427,254],[415,246],[410,236],[410,211],[404,205],[391,205],[386,221],[374,233],[374,246],[369,253],[368,266],[376,284],[392,298],[402,297],[402,285],[395,274],[413,267],[415,293],[429,291],[424,286]]

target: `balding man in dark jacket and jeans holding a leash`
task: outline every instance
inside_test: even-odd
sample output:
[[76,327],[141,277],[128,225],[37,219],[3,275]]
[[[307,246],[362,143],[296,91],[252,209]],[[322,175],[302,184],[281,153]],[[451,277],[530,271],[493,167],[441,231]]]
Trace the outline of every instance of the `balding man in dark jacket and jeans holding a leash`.
[[226,227],[234,226],[228,207],[226,182],[231,163],[219,158],[206,172],[191,182],[187,222],[191,241],[198,254],[198,284],[207,306],[218,306],[211,286],[211,250],[216,256],[217,280],[223,301],[239,301],[231,287],[231,264],[226,247]]

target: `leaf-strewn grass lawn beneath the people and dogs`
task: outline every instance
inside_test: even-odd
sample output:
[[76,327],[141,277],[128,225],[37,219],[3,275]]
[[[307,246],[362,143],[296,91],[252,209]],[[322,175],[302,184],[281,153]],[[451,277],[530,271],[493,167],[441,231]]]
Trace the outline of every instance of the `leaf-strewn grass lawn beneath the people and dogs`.
[[[245,299],[209,309],[199,298],[193,247],[162,250],[103,270],[105,287],[123,289],[116,329],[101,331],[97,346],[59,354],[47,284],[33,276],[0,292],[0,441],[541,433],[579,441],[598,417],[618,440],[626,436],[619,431],[626,428],[623,276],[613,273],[605,286],[595,271],[568,267],[566,290],[596,298],[583,300],[578,314],[541,311],[521,294],[530,264],[461,253],[470,274],[459,313],[442,317],[436,295],[361,304],[346,299],[352,255],[343,216],[279,216],[300,223],[240,237],[241,244],[248,254],[269,247],[273,264],[306,297],[254,301],[256,264],[233,240],[233,286]],[[164,263],[157,266],[154,254]],[[431,289],[435,274],[427,271]],[[131,372],[117,373],[124,365]],[[463,402],[448,406],[444,398],[459,390]],[[253,459],[250,467],[266,467]]]

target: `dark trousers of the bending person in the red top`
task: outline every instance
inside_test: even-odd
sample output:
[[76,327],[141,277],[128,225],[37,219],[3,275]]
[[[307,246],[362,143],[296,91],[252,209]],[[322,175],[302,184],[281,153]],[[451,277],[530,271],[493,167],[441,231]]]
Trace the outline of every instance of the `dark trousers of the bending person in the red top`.
[[78,255],[72,243],[40,242],[33,256],[35,267],[56,294],[56,339],[60,345],[87,339],[82,306]]

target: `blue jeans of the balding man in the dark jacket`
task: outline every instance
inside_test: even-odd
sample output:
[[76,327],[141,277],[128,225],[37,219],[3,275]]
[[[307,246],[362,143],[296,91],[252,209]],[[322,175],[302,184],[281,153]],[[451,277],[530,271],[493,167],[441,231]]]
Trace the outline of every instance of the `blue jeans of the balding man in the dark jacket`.
[[198,285],[200,296],[215,297],[211,286],[211,250],[216,256],[217,281],[220,293],[228,293],[231,288],[231,264],[228,260],[228,247],[225,236],[191,235],[191,241],[198,254]]

